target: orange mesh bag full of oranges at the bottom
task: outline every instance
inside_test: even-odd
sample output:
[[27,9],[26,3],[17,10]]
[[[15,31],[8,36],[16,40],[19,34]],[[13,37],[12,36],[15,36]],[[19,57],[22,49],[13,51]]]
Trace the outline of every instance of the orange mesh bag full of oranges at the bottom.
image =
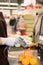
[[21,62],[22,65],[37,65],[38,63],[30,48],[25,49],[23,53],[18,55],[18,62]]

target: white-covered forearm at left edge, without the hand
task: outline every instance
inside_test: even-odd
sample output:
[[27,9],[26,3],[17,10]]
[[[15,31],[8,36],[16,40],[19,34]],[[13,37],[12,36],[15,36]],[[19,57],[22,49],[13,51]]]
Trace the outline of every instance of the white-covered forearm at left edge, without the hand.
[[14,46],[15,38],[0,38],[0,45]]

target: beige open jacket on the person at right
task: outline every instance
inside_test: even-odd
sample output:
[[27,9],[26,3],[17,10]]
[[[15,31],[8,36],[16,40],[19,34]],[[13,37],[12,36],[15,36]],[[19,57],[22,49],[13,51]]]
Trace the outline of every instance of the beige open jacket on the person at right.
[[43,13],[37,15],[34,26],[33,26],[33,41],[38,42],[39,41],[39,32],[40,32],[40,25],[41,25],[41,18],[43,16]]

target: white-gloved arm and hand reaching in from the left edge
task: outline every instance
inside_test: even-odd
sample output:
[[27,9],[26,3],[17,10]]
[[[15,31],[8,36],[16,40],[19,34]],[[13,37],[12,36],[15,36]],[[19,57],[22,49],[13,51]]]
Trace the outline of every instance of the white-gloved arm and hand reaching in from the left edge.
[[20,45],[27,45],[30,44],[27,40],[25,40],[22,36],[16,35],[15,37],[8,37],[8,38],[1,38],[0,37],[0,45],[8,45],[8,46],[15,46],[15,44]]

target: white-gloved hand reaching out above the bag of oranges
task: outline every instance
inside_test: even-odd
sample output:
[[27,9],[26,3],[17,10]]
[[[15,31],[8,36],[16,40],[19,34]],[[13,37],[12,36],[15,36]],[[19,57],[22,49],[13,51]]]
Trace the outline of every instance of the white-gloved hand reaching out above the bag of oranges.
[[31,44],[30,41],[24,39],[22,36],[15,36],[15,46],[26,46],[28,44]]

